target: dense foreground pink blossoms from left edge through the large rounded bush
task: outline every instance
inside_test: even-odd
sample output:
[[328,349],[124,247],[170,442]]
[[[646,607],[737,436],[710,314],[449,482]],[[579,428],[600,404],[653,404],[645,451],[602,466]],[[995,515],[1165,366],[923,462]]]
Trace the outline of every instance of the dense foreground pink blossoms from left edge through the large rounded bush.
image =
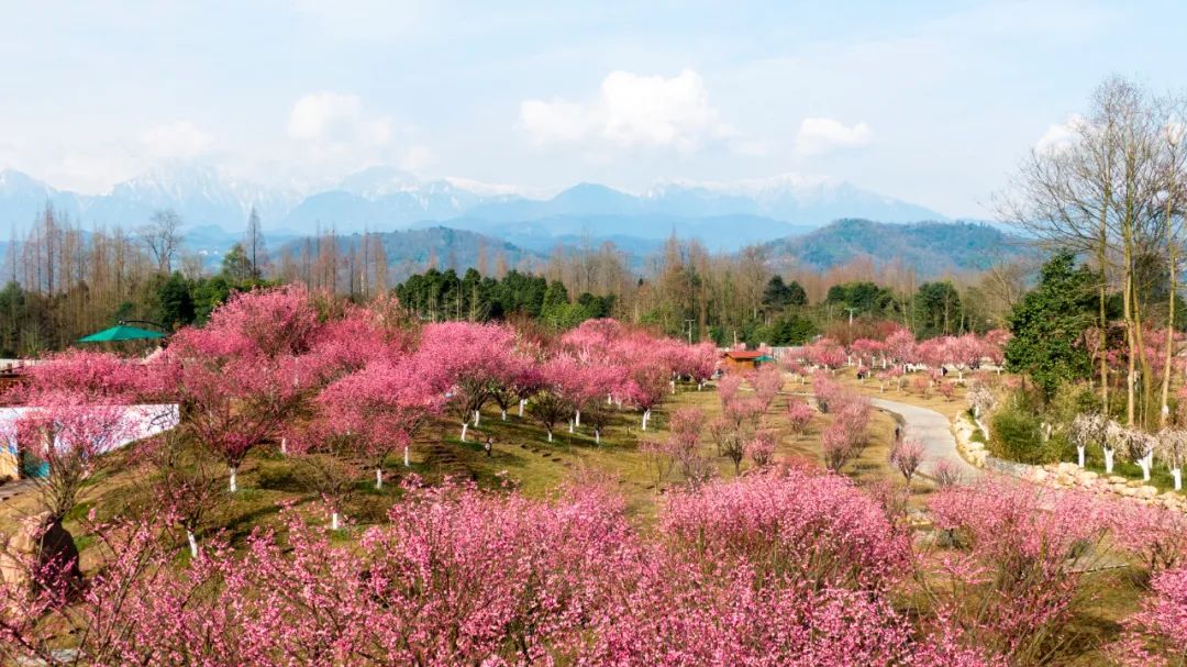
[[832,475],[677,494],[654,539],[597,485],[408,485],[388,519],[341,544],[286,512],[284,540],[182,566],[152,525],[96,528],[108,565],[74,604],[5,591],[0,659],[52,661],[62,621],[89,665],[989,663],[895,609],[909,541]]

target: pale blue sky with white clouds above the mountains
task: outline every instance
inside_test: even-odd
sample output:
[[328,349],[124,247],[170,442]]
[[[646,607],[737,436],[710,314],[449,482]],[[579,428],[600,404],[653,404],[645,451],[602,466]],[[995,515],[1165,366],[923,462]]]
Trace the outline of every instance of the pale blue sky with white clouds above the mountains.
[[554,192],[781,173],[989,217],[1106,76],[1187,84],[1155,1],[9,2],[0,169],[311,190],[373,165]]

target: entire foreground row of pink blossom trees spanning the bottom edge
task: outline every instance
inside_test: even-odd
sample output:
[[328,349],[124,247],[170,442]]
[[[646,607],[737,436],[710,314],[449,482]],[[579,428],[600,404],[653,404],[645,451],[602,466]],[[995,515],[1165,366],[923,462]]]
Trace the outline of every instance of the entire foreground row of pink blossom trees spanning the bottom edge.
[[[945,540],[913,540],[901,496],[793,466],[675,490],[643,532],[611,487],[586,479],[531,500],[410,483],[389,522],[357,540],[286,510],[283,540],[260,531],[248,557],[220,542],[188,561],[158,539],[160,513],[95,526],[106,567],[71,604],[61,568],[13,564],[39,585],[0,583],[0,659],[991,667],[1187,658],[1187,545],[1181,515],[1166,510],[986,479],[931,494]],[[1102,570],[1118,565],[1150,589],[1119,631],[1094,628],[1087,641]],[[69,653],[58,650],[62,628],[74,630]]]

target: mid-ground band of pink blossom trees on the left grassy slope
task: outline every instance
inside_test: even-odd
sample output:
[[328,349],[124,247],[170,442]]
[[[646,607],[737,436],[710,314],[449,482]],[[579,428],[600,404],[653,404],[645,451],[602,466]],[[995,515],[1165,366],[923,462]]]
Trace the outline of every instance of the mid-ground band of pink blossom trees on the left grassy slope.
[[[550,442],[565,420],[571,428],[584,424],[599,442],[614,411],[640,409],[646,431],[678,377],[704,382],[716,363],[711,345],[610,319],[560,337],[504,324],[420,326],[394,299],[363,307],[284,286],[231,297],[204,326],[182,329],[146,362],[74,351],[30,367],[28,381],[6,398],[37,407],[8,436],[52,463],[61,459],[55,438],[30,438],[30,428],[66,428],[87,414],[72,406],[177,402],[180,432],[226,464],[233,493],[249,452],[279,445],[311,457],[323,496],[334,498],[362,469],[374,470],[381,485],[385,460],[399,449],[408,465],[420,428],[439,415],[456,419],[463,442],[490,405],[503,419],[518,407]],[[51,465],[50,483],[59,472],[90,475],[109,460],[102,455],[119,439],[94,440],[64,444],[80,460]],[[75,503],[70,496],[52,504],[59,520]]]

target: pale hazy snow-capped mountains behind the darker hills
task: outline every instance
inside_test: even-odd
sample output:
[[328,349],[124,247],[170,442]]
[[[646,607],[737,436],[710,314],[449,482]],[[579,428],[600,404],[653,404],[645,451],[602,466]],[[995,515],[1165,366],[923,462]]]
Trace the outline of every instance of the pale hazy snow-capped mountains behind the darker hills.
[[[254,207],[265,229],[387,231],[427,224],[482,233],[547,237],[580,230],[590,237],[662,237],[687,229],[728,237],[745,220],[744,236],[774,239],[788,225],[820,227],[845,217],[883,222],[945,220],[926,208],[848,182],[800,174],[735,183],[667,182],[635,195],[582,183],[553,197],[529,198],[518,188],[459,178],[421,180],[389,166],[343,178],[336,186],[298,193],[226,177],[202,164],[178,163],[120,183],[102,195],[56,190],[17,171],[0,172],[0,227],[25,227],[45,203],[83,224],[135,227],[170,208],[188,228],[243,229]],[[732,221],[732,222],[731,222]],[[764,227],[770,227],[769,235]]]

